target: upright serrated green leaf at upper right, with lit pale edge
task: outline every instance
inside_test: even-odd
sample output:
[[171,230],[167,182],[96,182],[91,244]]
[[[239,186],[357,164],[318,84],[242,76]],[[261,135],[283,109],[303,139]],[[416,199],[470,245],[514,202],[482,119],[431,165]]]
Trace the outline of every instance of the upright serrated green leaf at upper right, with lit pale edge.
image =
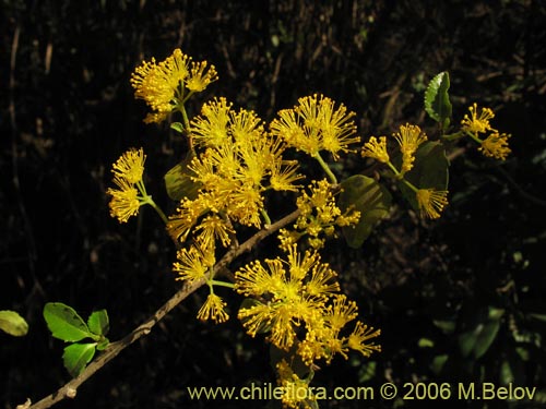
[[449,100],[449,74],[440,72],[429,83],[425,91],[425,110],[440,124],[442,130],[447,129],[451,121],[451,103]]

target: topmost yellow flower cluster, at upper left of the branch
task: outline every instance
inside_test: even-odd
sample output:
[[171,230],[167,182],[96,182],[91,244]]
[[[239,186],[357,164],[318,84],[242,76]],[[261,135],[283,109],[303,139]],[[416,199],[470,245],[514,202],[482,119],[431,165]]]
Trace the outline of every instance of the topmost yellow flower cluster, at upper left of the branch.
[[206,61],[192,62],[191,57],[176,49],[164,61],[143,61],[131,75],[135,98],[144,99],[153,112],[144,122],[162,122],[193,93],[202,92],[216,81],[214,65],[206,69]]

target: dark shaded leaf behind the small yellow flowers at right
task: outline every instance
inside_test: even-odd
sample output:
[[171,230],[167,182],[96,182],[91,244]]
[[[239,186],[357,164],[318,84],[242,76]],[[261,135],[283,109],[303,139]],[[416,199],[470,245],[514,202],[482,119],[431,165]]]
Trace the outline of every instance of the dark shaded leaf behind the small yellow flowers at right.
[[[438,141],[422,144],[415,153],[414,167],[405,173],[404,179],[418,189],[448,190],[449,160],[443,145]],[[399,187],[410,205],[419,210],[415,192],[403,182]]]

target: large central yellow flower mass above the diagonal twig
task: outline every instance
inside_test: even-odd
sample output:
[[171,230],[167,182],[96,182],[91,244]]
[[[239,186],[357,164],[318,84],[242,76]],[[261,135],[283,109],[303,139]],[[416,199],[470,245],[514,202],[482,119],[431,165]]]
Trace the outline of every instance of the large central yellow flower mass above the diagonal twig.
[[201,188],[170,217],[173,237],[183,241],[197,225],[205,245],[219,239],[227,246],[233,222],[261,227],[266,190],[297,190],[297,165],[283,159],[286,145],[264,132],[254,112],[235,111],[224,98],[214,99],[191,122],[191,132],[204,149],[189,166]]

